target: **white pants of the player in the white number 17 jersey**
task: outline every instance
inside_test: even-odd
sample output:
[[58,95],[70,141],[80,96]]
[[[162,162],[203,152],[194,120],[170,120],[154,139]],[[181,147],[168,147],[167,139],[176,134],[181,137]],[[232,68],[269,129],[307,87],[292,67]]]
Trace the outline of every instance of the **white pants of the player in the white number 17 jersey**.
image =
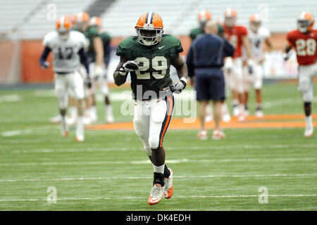
[[68,107],[68,93],[73,93],[76,99],[83,99],[84,79],[79,72],[70,72],[66,75],[55,73],[55,92],[58,98],[58,106],[61,109]]

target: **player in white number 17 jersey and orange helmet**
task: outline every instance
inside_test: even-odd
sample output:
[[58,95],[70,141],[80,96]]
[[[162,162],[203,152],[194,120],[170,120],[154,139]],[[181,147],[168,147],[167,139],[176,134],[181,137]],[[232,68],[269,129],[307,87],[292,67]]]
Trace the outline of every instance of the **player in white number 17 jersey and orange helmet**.
[[45,47],[39,63],[43,69],[49,67],[46,61],[49,53],[53,52],[53,70],[55,72],[55,91],[58,98],[58,108],[61,114],[61,134],[68,136],[68,124],[66,122],[66,110],[68,108],[68,89],[77,98],[77,126],[76,140],[85,140],[85,127],[83,124],[84,113],[84,78],[78,72],[82,63],[87,70],[87,86],[90,88],[89,63],[85,53],[87,40],[84,34],[70,30],[71,23],[66,17],[58,18],[56,30],[45,35],[43,45]]

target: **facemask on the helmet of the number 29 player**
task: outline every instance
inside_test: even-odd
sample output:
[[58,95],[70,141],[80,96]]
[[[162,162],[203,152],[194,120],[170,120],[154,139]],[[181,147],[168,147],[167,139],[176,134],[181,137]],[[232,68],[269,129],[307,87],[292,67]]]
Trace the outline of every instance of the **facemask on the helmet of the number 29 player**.
[[[144,25],[145,26],[145,25]],[[161,41],[163,29],[161,27],[135,28],[137,31],[137,40],[145,46],[152,46]]]

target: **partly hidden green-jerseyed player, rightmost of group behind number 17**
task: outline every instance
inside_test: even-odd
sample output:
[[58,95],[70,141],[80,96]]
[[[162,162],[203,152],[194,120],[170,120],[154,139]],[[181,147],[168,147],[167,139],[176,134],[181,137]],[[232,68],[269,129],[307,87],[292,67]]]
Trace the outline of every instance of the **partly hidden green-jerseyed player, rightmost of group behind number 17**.
[[[108,80],[107,80],[107,68],[110,61],[110,53],[111,53],[111,36],[107,33],[102,31],[101,26],[101,18],[94,16],[90,19],[90,26],[97,28],[97,31],[99,33],[99,37],[101,38],[102,44],[104,46],[104,65],[102,67],[103,69],[103,75],[99,77],[95,77],[96,81],[99,82],[99,86],[101,89],[101,93],[104,96],[104,103],[106,105],[106,122],[113,123],[113,109],[109,98],[109,87],[108,87]],[[95,63],[91,63],[91,70],[94,69]]]

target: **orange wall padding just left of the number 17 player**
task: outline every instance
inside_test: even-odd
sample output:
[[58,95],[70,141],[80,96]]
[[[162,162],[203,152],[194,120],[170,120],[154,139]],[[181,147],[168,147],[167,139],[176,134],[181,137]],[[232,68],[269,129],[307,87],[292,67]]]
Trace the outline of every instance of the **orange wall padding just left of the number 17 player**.
[[[25,83],[50,83],[54,80],[54,72],[51,66],[42,70],[39,66],[39,57],[44,46],[42,40],[24,40],[21,43],[22,56],[22,80]],[[52,62],[52,55],[49,54],[48,61]]]

